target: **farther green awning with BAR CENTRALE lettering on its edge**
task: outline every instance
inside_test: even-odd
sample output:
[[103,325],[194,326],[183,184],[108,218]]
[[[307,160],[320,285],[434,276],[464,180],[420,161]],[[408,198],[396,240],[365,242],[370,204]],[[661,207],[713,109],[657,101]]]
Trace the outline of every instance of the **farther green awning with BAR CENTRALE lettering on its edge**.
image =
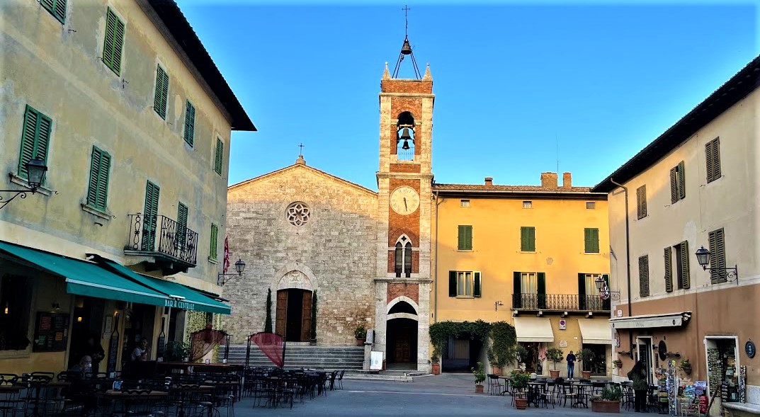
[[182,308],[184,310],[197,310],[207,311],[210,313],[218,314],[230,314],[232,308],[222,302],[218,302],[215,299],[211,299],[207,295],[203,295],[200,292],[194,291],[179,283],[173,283],[167,280],[161,280],[154,276],[147,276],[141,273],[137,273],[134,270],[129,269],[121,264],[106,259],[104,257],[97,257],[96,261],[114,273],[119,273],[122,276],[135,280],[144,286],[150,287],[158,292],[163,292],[168,296],[166,307]]

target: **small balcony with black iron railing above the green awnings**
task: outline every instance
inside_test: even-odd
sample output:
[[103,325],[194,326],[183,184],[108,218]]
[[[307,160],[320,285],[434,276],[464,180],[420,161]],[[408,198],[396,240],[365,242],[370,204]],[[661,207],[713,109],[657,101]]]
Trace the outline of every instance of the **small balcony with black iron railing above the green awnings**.
[[129,235],[124,254],[152,258],[148,264],[166,275],[195,267],[198,232],[166,216],[129,214]]

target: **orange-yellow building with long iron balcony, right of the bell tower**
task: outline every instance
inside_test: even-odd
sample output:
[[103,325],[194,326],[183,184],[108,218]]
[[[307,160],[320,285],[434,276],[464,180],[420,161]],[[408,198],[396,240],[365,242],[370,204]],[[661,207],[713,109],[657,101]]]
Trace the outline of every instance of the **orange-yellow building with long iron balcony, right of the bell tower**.
[[[432,322],[506,321],[528,351],[528,371],[549,374],[544,353],[591,349],[575,367],[610,374],[610,242],[606,195],[572,187],[569,172],[540,186],[434,184]],[[614,254],[613,254],[614,256]],[[602,287],[604,288],[604,287]],[[613,297],[616,294],[612,294]],[[488,363],[485,346],[449,340],[442,369]],[[511,365],[508,365],[511,366]],[[565,361],[556,364],[566,375]]]

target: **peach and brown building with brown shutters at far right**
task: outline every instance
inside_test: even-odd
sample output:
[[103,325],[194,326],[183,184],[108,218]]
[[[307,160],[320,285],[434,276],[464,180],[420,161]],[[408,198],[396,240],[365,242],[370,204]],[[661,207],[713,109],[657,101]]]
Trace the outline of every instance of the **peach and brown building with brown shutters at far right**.
[[592,190],[609,193],[620,376],[632,358],[650,374],[689,359],[679,376],[709,381],[735,415],[760,410],[758,83],[760,57]]

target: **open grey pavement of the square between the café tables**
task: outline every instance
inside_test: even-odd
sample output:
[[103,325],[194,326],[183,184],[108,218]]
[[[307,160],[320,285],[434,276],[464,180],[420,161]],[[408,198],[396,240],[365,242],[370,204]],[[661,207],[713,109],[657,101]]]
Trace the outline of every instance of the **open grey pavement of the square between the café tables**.
[[[297,415],[314,417],[356,417],[359,416],[471,416],[487,415],[502,417],[544,417],[547,415],[581,416],[591,413],[591,409],[571,409],[556,406],[552,409],[515,409],[509,396],[489,396],[476,394],[473,377],[470,374],[441,374],[414,377],[413,381],[370,381],[346,380],[344,389],[328,391],[327,396],[308,397],[303,403],[293,403],[293,409],[280,407],[268,409],[253,407],[253,400],[243,399],[235,407],[236,417],[269,415]],[[622,410],[622,415],[640,415],[632,410]],[[601,414],[600,414],[601,415]]]

